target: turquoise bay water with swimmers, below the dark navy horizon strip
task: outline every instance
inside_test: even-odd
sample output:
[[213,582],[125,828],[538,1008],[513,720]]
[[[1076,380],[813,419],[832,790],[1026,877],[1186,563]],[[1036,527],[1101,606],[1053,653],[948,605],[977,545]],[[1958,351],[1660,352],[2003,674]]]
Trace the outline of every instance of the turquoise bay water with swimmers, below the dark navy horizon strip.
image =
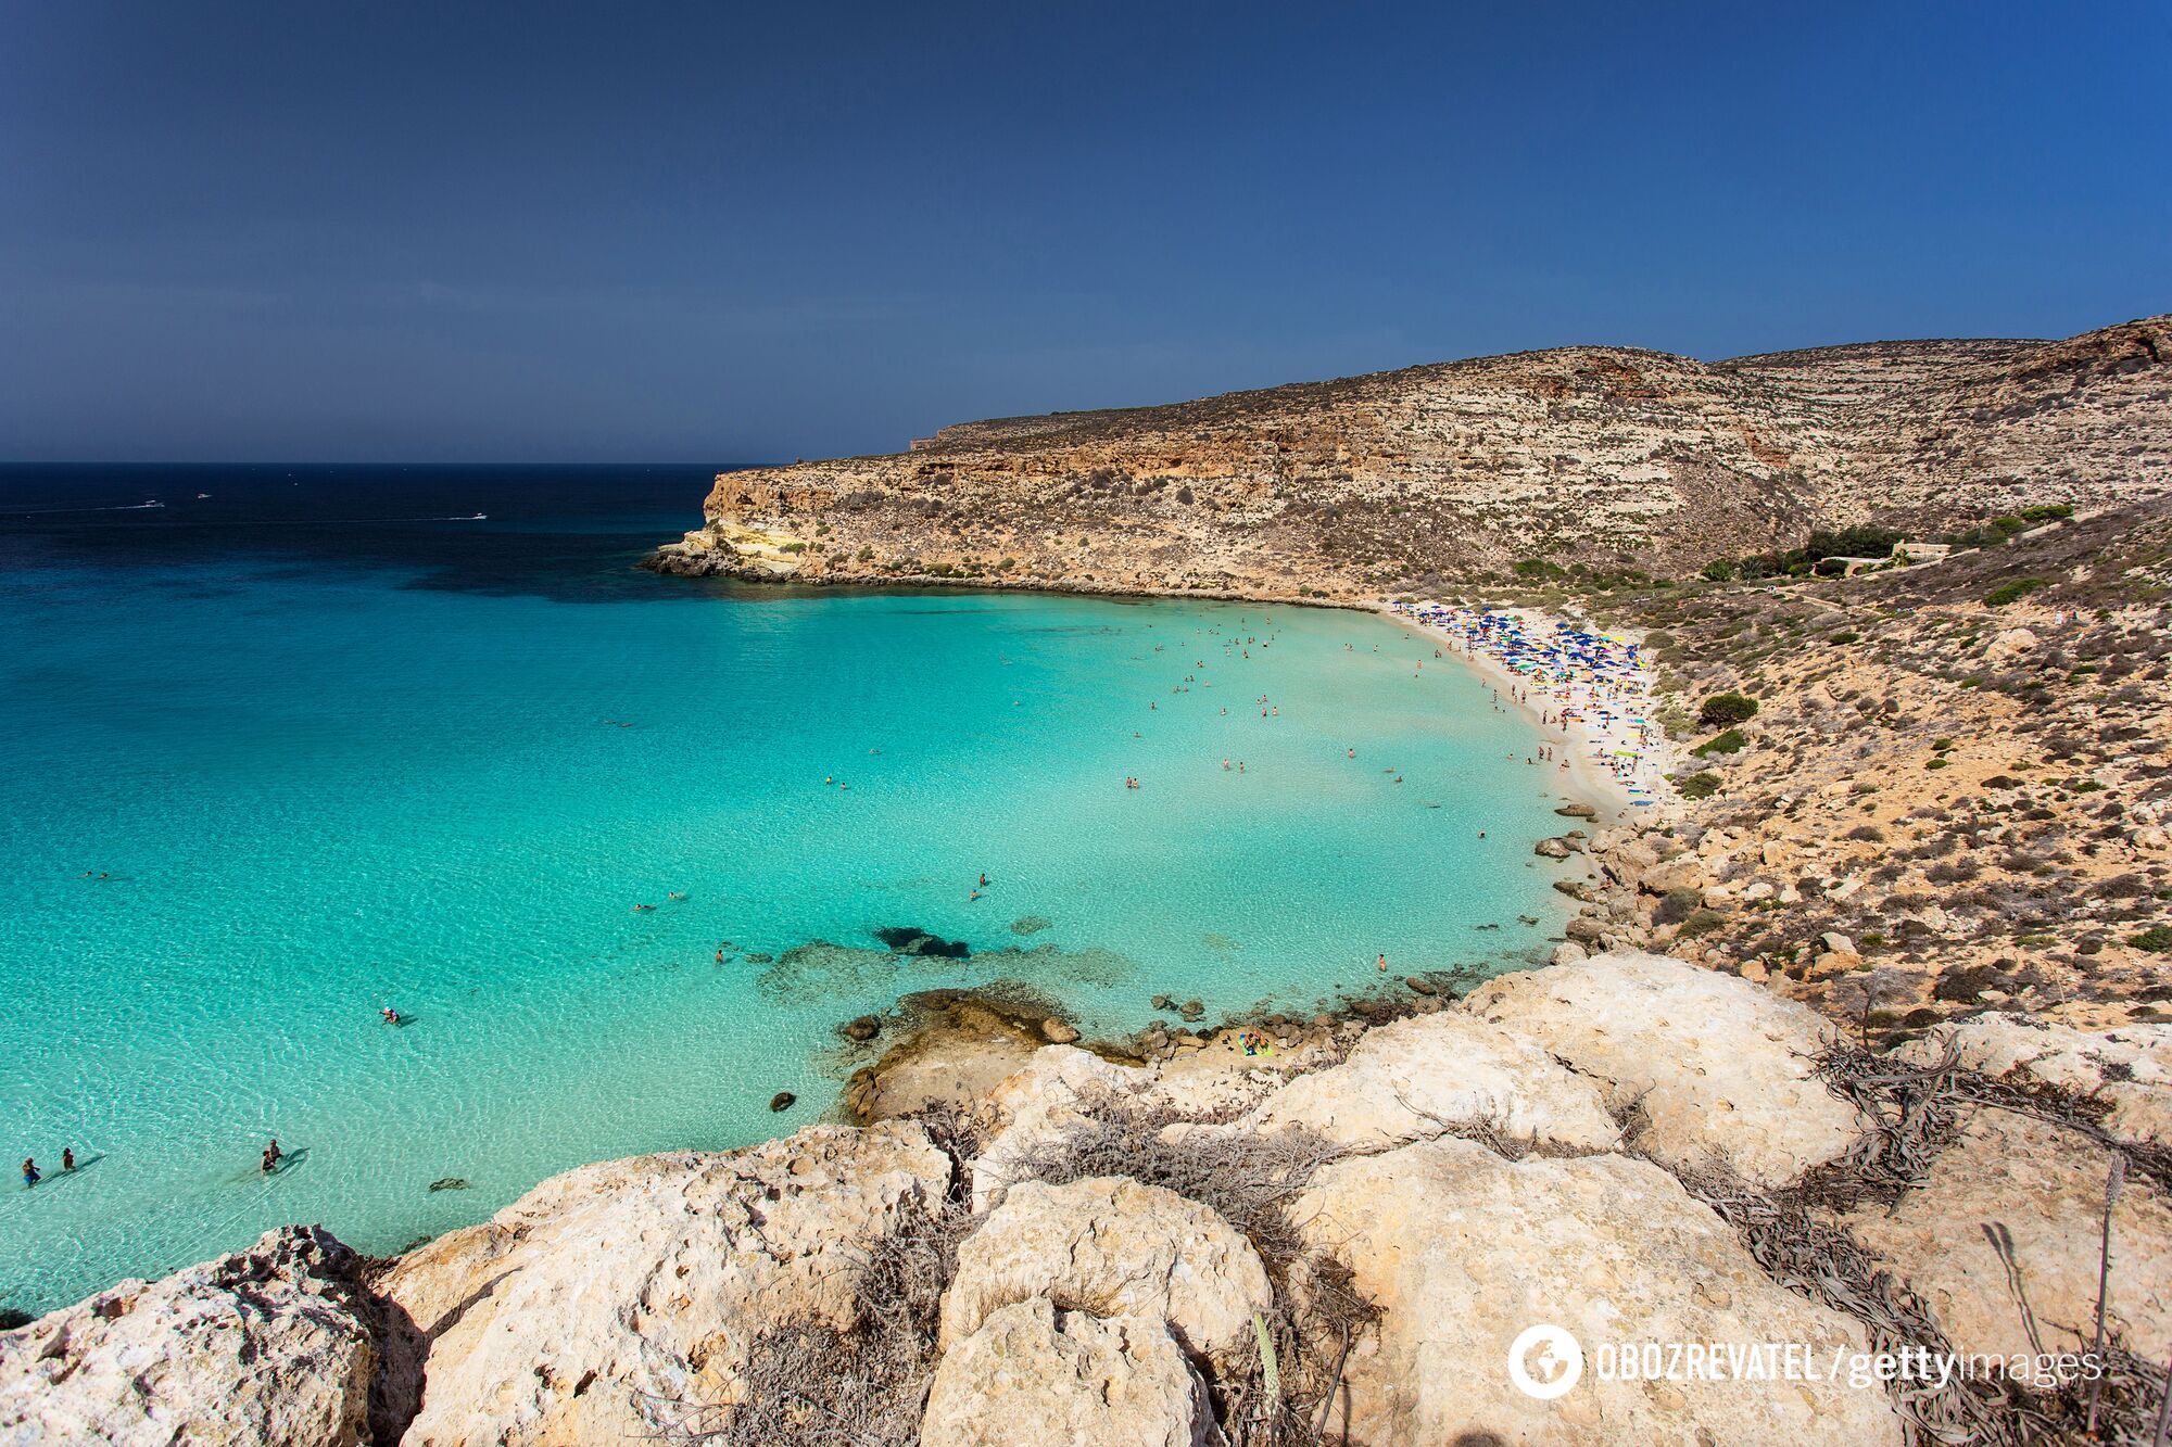
[[[9,1175],[0,1304],[282,1221],[393,1251],[584,1160],[791,1130],[834,1023],[912,989],[1132,1030],[1156,993],[1371,989],[1379,952],[1518,965],[1559,919],[1531,732],[1390,624],[734,593],[630,571],[621,526],[13,539],[0,1145],[87,1165]],[[843,949],[747,958],[808,941]]]

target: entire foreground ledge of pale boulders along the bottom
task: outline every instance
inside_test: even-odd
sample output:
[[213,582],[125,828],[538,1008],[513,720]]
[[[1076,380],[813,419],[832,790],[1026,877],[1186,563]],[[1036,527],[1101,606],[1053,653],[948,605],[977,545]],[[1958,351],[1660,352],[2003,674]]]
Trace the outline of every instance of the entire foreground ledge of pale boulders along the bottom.
[[[1047,1045],[867,1128],[584,1167],[391,1262],[278,1232],[0,1334],[0,1440],[2079,1440],[2087,1382],[2033,1362],[2100,1299],[2100,1421],[2161,1399],[2172,1028],[1881,1056],[1612,954],[1275,1036]],[[1510,1375],[1538,1323],[1581,1343],[1518,1358],[1581,1367],[1555,1397]],[[1894,1377],[1916,1349],[2031,1364]]]

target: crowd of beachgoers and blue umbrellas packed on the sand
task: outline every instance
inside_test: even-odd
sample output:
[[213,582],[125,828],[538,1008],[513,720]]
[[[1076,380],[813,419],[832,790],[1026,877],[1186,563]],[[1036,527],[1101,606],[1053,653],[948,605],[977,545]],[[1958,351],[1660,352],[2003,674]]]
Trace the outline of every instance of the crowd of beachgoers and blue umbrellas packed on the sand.
[[1392,611],[1447,634],[1457,654],[1507,674],[1514,702],[1533,710],[1542,728],[1559,730],[1631,804],[1655,802],[1664,737],[1638,643],[1512,608],[1399,602]]

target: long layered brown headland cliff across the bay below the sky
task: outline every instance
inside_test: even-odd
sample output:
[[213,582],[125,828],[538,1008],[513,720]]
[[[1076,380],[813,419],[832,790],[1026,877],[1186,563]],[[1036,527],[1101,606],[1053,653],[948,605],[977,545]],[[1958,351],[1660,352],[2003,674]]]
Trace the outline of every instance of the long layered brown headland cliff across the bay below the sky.
[[1564,348],[943,428],[717,478],[665,571],[1362,597],[1549,558],[1679,576],[1811,528],[2165,489],[2172,317],[1701,363]]

